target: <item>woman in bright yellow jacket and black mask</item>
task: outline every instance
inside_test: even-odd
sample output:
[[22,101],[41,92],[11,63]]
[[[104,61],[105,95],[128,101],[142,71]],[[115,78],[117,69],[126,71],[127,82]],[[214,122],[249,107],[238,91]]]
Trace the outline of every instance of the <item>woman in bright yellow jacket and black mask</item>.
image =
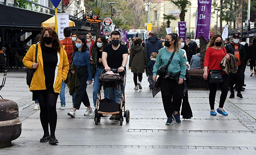
[[[32,45],[23,59],[27,68],[37,68],[31,81],[30,91],[33,100],[38,99],[40,105],[40,121],[44,136],[40,142],[58,143],[55,137],[57,124],[56,103],[62,81],[67,77],[69,64],[64,47],[60,44],[58,35],[53,28],[42,30],[38,44],[37,63],[35,62],[36,44]],[[50,125],[49,135],[48,124]]]

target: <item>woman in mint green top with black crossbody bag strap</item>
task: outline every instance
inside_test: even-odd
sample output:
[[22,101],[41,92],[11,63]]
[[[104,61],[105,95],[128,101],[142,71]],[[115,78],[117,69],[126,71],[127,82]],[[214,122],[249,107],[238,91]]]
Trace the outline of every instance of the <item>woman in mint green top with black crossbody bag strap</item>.
[[160,87],[164,111],[168,117],[166,125],[172,125],[172,118],[176,124],[180,124],[180,114],[178,112],[182,101],[183,78],[186,75],[186,59],[183,50],[179,48],[178,34],[168,34],[165,38],[164,46],[158,51],[159,53],[156,57],[153,80],[156,81],[158,70],[168,64],[170,57],[175,52],[168,67],[170,76],[166,78],[160,77]]

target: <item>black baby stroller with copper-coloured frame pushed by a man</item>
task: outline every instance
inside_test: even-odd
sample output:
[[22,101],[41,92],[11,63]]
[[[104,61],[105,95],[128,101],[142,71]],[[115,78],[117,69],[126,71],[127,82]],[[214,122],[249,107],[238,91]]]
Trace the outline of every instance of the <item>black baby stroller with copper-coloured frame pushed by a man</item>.
[[[106,71],[103,70],[100,74],[99,81],[99,89],[97,94],[97,102],[96,102],[96,109],[95,109],[95,125],[98,125],[98,122],[100,122],[100,118],[102,117],[102,114],[105,115],[118,115],[119,117],[120,125],[123,125],[124,117],[126,119],[126,123],[129,123],[130,121],[130,111],[125,110],[125,95],[124,95],[124,88],[125,88],[125,79],[126,79],[126,72],[124,71],[124,76],[120,76],[117,72],[117,69],[111,69],[112,72],[115,74],[109,75],[106,74]],[[100,90],[105,90],[106,88],[114,88],[116,90],[119,89],[119,85],[122,90],[122,98],[120,103],[116,103],[116,101],[111,101],[109,99],[101,99]],[[124,108],[124,111],[122,111],[122,108]],[[122,113],[124,112],[124,115]]]

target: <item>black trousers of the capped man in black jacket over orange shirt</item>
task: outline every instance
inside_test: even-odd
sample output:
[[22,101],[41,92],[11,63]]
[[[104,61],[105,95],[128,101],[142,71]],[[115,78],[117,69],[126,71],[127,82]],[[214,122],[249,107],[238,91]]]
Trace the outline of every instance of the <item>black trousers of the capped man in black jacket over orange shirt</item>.
[[234,85],[236,85],[237,88],[237,93],[241,93],[242,89],[242,65],[238,66],[237,72],[230,73],[229,74],[229,88],[230,88],[230,93],[235,93],[234,92]]

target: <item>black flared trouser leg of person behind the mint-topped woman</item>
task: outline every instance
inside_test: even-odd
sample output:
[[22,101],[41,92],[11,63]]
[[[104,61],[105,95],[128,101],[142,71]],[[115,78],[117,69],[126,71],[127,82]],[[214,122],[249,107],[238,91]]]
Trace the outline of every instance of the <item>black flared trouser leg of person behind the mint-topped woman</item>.
[[[189,85],[188,80],[184,80],[186,85]],[[181,115],[184,119],[190,119],[193,117],[192,110],[188,101],[188,91],[184,94],[182,98],[182,108],[181,108]]]

